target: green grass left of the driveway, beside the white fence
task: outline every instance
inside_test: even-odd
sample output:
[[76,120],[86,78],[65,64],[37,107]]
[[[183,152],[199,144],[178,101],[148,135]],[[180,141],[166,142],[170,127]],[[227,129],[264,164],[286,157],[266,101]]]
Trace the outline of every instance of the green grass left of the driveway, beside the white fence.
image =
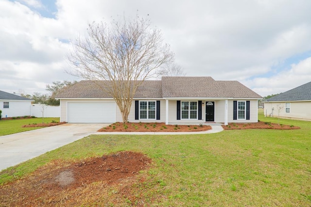
[[[52,120],[59,122],[59,118],[44,118],[44,123],[51,123]],[[0,120],[0,136],[42,128],[42,127],[22,127],[24,125],[34,123],[42,124],[42,118]]]

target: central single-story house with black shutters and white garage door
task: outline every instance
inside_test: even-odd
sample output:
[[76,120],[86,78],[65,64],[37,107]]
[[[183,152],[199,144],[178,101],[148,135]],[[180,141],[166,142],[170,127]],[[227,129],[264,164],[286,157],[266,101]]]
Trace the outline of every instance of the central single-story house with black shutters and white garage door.
[[[92,81],[82,80],[59,94],[62,122],[122,122],[114,99]],[[238,81],[211,77],[145,80],[136,91],[129,122],[186,124],[257,122],[262,97]]]

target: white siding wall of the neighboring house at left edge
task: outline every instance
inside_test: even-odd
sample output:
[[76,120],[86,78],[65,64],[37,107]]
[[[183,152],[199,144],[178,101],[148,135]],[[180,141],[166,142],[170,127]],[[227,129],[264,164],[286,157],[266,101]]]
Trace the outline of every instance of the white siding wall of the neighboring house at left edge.
[[[3,109],[3,102],[9,102],[9,108]],[[16,116],[30,116],[31,101],[16,101],[16,100],[0,100],[0,110],[2,118]]]

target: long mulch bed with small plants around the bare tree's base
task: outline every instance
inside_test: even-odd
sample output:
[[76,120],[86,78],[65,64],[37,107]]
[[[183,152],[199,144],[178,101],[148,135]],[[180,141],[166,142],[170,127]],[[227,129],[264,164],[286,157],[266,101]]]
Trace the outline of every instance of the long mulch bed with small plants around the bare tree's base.
[[165,125],[165,123],[114,123],[99,129],[102,132],[191,132],[207,131],[212,127],[208,125]]

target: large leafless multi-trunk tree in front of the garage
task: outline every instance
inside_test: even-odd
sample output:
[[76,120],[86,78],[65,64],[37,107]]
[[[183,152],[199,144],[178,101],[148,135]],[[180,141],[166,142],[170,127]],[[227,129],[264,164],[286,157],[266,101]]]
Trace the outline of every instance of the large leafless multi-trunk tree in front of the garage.
[[157,68],[173,61],[170,46],[163,43],[160,30],[150,29],[150,21],[138,16],[123,17],[110,25],[93,22],[87,34],[73,43],[68,55],[73,69],[67,72],[94,81],[114,98],[127,122],[137,88],[155,77]]

